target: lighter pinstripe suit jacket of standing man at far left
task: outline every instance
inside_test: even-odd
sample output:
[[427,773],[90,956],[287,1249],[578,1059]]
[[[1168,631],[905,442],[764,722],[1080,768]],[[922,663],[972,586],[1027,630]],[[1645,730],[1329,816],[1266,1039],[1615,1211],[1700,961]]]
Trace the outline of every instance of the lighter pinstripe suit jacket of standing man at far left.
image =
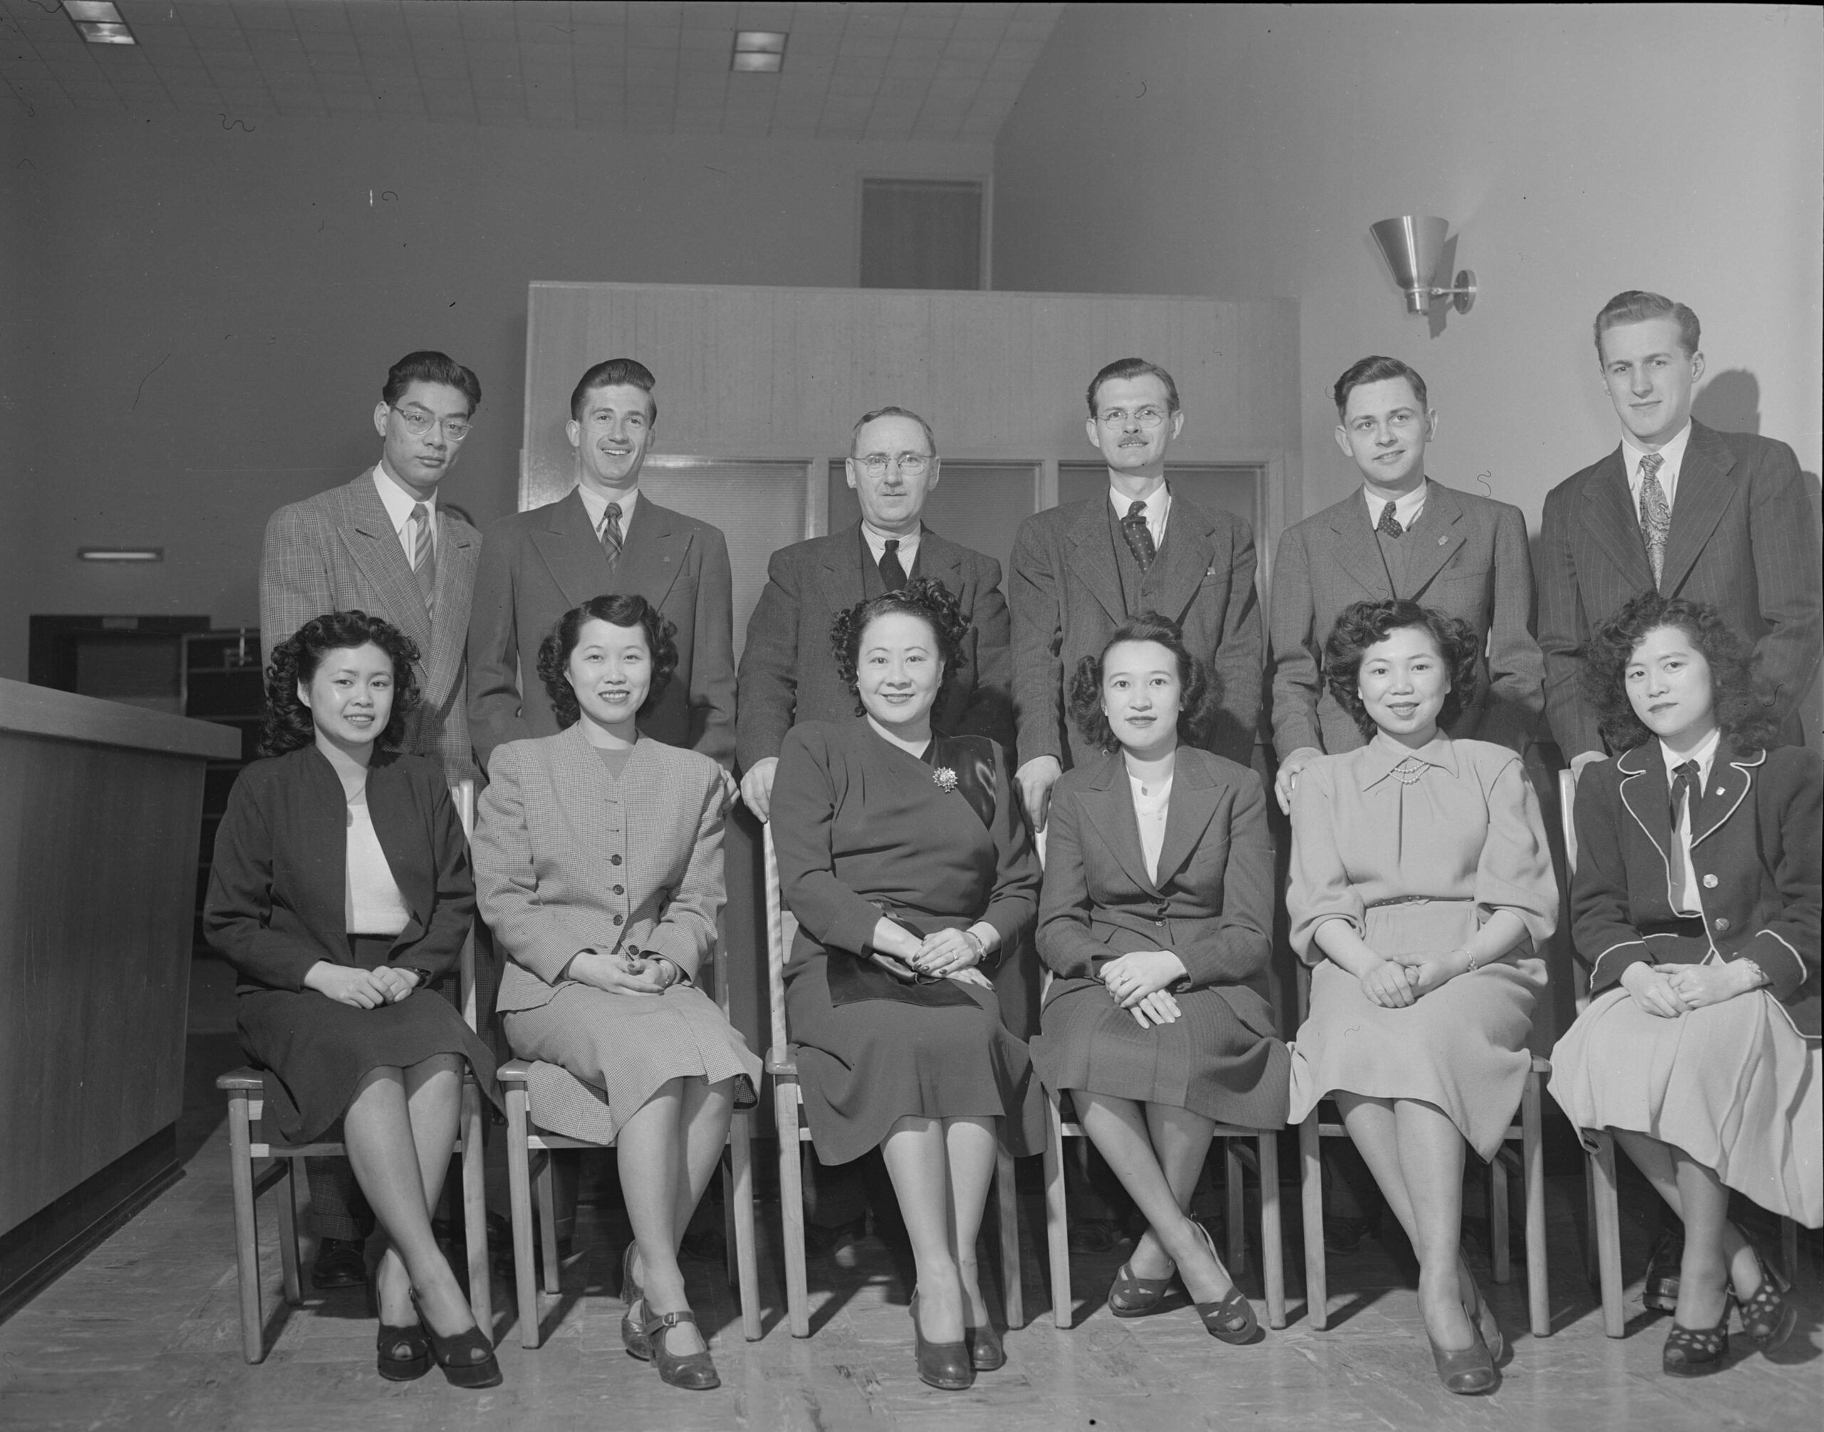
[[447,781],[478,775],[469,746],[469,602],[482,534],[438,507],[438,586],[432,611],[392,531],[368,469],[343,487],[281,507],[259,555],[259,644],[272,649],[312,617],[359,607],[418,644],[421,706],[405,750],[429,755]]

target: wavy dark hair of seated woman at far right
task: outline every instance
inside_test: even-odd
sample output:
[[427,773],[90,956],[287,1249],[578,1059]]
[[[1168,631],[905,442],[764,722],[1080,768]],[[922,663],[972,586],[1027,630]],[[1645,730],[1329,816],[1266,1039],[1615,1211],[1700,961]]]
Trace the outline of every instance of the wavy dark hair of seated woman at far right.
[[1755,673],[1755,649],[1709,602],[1687,602],[1643,591],[1591,633],[1583,662],[1583,695],[1596,708],[1603,741],[1620,755],[1653,732],[1627,699],[1627,662],[1653,631],[1676,628],[1704,653],[1711,669],[1711,708],[1716,724],[1738,752],[1766,750],[1778,730],[1771,690]]

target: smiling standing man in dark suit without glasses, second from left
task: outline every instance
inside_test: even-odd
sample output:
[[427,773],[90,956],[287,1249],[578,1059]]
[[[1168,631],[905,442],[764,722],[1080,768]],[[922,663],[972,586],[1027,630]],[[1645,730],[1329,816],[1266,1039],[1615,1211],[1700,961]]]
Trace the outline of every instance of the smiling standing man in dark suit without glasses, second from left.
[[483,764],[507,741],[556,733],[538,644],[558,617],[604,593],[638,593],[677,626],[677,673],[640,730],[724,766],[733,761],[728,540],[640,493],[657,423],[646,365],[596,363],[576,383],[565,425],[576,489],[489,529],[469,624],[469,724]]

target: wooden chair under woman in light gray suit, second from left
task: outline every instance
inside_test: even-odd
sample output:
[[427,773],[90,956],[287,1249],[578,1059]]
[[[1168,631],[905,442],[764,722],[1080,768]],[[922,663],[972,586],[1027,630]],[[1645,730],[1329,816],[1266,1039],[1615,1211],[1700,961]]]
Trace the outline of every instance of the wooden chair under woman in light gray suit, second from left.
[[[728,1014],[728,949],[715,941],[715,998]],[[500,1065],[500,1087],[507,1096],[507,1188],[513,1200],[513,1277],[520,1306],[520,1344],[536,1348],[542,1337],[538,1288],[533,1279],[533,1195],[538,1197],[538,1244],[547,1293],[558,1292],[556,1191],[551,1158],[540,1158],[533,1173],[533,1151],[607,1149],[615,1146],[606,1127],[602,1138],[573,1138],[538,1126],[534,1084],[584,1085],[575,1074],[544,1060],[509,1060]],[[741,1295],[741,1332],[753,1343],[761,1337],[761,1277],[753,1222],[753,1124],[750,1109],[735,1109],[728,1126],[728,1153],[722,1162],[722,1213],[728,1235],[728,1281]],[[534,1189],[536,1184],[536,1189]]]

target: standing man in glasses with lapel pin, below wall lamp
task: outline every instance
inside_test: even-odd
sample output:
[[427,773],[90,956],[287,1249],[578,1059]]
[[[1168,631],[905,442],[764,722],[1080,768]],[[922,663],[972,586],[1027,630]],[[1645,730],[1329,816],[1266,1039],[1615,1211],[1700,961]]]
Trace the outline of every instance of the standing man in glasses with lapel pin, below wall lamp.
[[1425,474],[1437,432],[1425,379],[1397,358],[1363,358],[1332,390],[1337,447],[1361,491],[1304,518],[1273,566],[1275,795],[1291,810],[1299,772],[1363,744],[1324,682],[1324,640],[1350,602],[1403,597],[1461,617],[1481,644],[1476,691],[1450,735],[1521,750],[1545,706],[1545,662],[1532,640],[1532,556],[1518,507],[1459,493]]

